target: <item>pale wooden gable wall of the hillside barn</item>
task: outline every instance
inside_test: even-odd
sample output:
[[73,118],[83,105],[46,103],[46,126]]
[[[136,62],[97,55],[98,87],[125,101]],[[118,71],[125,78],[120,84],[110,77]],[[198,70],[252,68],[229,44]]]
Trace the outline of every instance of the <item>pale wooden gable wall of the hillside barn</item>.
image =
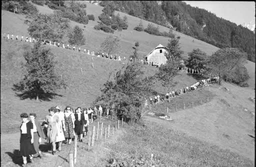
[[[160,53],[160,49],[162,49],[162,53]],[[148,62],[152,63],[153,64],[165,64],[167,59],[166,57],[164,56],[164,53],[167,52],[166,49],[164,48],[157,48],[155,49],[150,55],[148,55]]]

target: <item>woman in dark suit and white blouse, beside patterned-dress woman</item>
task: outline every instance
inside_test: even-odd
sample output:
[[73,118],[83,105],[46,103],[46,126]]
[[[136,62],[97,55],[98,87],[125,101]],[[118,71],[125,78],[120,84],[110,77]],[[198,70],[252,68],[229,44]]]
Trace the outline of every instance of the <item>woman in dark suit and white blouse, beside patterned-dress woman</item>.
[[83,128],[84,128],[85,118],[84,114],[81,113],[81,107],[77,108],[77,113],[75,113],[75,133],[78,135],[80,142],[83,142]]

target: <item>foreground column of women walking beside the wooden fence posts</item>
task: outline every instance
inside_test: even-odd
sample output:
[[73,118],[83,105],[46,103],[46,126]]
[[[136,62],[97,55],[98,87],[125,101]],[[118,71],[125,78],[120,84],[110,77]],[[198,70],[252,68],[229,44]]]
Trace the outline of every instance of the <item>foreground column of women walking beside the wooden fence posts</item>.
[[[88,132],[88,125],[92,119],[97,119],[97,115],[102,115],[102,107],[73,109],[66,106],[64,112],[59,106],[49,108],[49,114],[46,115],[45,120],[40,124],[36,119],[35,113],[22,113],[20,115],[22,124],[20,126],[20,153],[23,158],[23,166],[27,164],[27,157],[34,163],[33,157],[36,154],[42,158],[43,154],[39,150],[39,144],[42,138],[46,139],[51,144],[52,154],[56,150],[61,151],[61,145],[71,144],[74,136],[78,136],[78,140],[83,142],[83,137]],[[28,119],[29,117],[29,119]],[[43,129],[41,128],[43,127]]]

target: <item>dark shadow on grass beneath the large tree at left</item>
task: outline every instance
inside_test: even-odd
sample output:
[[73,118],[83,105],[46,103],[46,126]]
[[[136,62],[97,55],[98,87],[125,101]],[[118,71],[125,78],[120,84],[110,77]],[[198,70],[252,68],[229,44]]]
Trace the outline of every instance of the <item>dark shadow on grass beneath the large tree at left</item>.
[[[32,99],[36,99],[36,90],[31,89],[31,90],[27,90],[27,91],[23,91],[23,87],[20,86],[19,84],[13,84],[13,91],[16,91],[16,96],[20,97],[21,100],[25,100],[27,98],[29,98],[30,100]],[[20,92],[20,93],[17,93]],[[57,93],[44,93],[43,91],[39,92],[39,96],[38,98],[41,101],[51,101],[55,96],[59,96],[62,97],[61,94],[57,94]]]

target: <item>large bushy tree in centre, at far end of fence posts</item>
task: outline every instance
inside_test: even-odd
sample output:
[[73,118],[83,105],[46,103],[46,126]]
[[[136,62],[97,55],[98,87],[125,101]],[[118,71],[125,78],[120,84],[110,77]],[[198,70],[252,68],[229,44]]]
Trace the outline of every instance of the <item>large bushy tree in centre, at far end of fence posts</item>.
[[152,92],[152,77],[145,78],[140,63],[129,64],[124,71],[121,70],[114,76],[114,81],[107,81],[101,89],[95,103],[114,105],[117,116],[123,116],[125,120],[138,121],[142,118],[146,109],[145,97]]

